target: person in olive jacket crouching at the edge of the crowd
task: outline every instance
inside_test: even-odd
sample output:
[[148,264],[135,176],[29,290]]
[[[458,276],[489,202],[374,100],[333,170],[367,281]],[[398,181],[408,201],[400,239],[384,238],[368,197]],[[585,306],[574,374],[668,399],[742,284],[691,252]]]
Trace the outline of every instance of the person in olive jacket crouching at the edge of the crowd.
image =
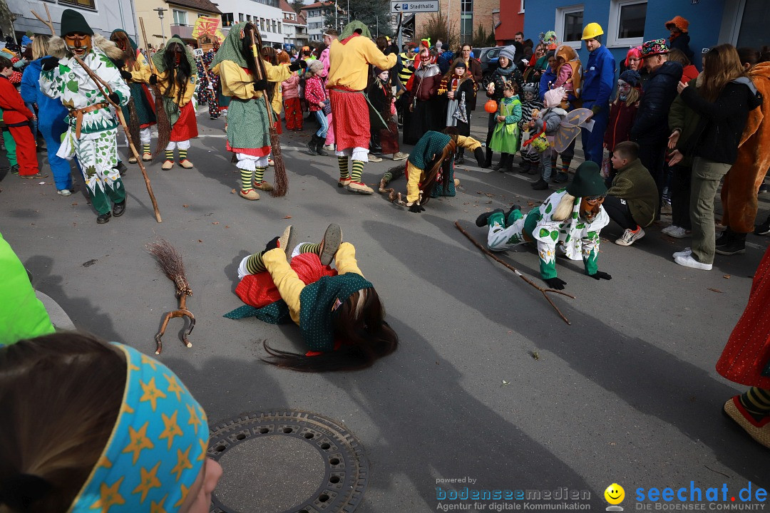
[[639,145],[624,141],[612,151],[612,167],[618,173],[604,198],[604,209],[625,232],[615,244],[630,246],[644,237],[658,212],[658,186],[638,158]]

